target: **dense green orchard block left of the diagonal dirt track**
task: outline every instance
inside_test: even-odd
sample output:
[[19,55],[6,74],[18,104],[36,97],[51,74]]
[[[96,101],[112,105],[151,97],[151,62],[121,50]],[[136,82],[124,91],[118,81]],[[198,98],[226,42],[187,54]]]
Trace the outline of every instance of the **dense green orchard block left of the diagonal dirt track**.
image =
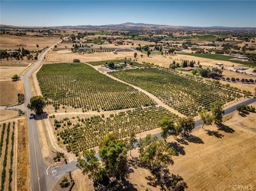
[[109,111],[155,105],[137,89],[113,80],[84,63],[45,64],[37,79],[47,104],[83,111]]

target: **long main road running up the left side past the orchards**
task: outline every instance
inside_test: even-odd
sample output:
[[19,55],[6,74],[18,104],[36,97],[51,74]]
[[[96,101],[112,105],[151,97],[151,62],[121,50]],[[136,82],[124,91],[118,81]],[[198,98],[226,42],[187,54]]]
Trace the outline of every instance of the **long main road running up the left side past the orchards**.
[[[24,77],[21,78],[25,88],[25,105],[27,105],[32,97],[29,78],[31,74],[41,65],[44,60],[44,56],[50,51],[51,48],[46,49],[46,51],[39,56],[38,61],[31,67]],[[52,175],[49,173],[47,175],[46,169],[47,165],[43,161],[41,148],[39,144],[38,132],[36,128],[36,121],[29,119],[31,111],[25,107],[28,121],[28,136],[29,136],[29,159],[30,159],[30,181],[31,189],[43,191],[49,190],[52,183]]]

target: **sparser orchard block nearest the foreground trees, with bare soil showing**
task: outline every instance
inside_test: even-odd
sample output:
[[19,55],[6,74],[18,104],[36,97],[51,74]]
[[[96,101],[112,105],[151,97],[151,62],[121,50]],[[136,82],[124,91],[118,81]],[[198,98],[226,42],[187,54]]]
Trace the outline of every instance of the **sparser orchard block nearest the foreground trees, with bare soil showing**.
[[108,132],[117,132],[119,138],[125,138],[133,131],[139,134],[158,127],[163,117],[177,121],[175,115],[163,107],[141,107],[109,117],[94,116],[91,118],[64,118],[54,120],[55,134],[58,141],[66,145],[67,151],[78,155],[79,152],[98,146]]

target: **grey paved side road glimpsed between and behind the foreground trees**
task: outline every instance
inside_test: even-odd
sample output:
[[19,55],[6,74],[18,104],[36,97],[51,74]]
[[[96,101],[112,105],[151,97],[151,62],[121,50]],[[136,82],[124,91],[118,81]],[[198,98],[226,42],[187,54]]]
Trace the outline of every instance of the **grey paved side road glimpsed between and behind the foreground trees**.
[[[248,99],[242,103],[238,103],[234,106],[231,106],[229,107],[228,109],[225,110],[225,114],[223,114],[223,116],[227,115],[227,114],[230,114],[234,111],[236,111],[236,107],[238,105],[249,105],[253,102],[256,102],[256,98],[251,98],[251,99]],[[201,126],[203,123],[202,121],[196,121],[196,124],[195,124],[195,127],[199,127]],[[158,138],[162,138],[161,137],[161,134],[158,132],[157,134],[153,134],[153,135],[156,135]],[[137,144],[135,145],[135,147],[137,147]],[[99,153],[96,153],[96,156],[98,157],[99,159]],[[63,165],[61,167],[58,167],[58,168],[52,168],[52,176],[53,176],[53,181],[57,180],[58,178],[60,178],[62,175],[64,175],[66,172],[69,172],[69,171],[73,171],[73,170],[76,170],[77,167],[76,167],[76,163],[77,161],[74,161],[74,162],[71,162],[69,164],[66,164],[66,165]]]

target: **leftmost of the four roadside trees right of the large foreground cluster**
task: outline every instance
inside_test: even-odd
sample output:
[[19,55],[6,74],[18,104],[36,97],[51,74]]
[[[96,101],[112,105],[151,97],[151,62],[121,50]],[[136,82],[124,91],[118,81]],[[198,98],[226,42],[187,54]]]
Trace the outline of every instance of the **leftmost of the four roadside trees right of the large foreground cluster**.
[[178,126],[175,126],[173,123],[173,120],[169,118],[163,118],[161,121],[159,121],[159,126],[162,128],[161,135],[166,142],[166,138],[170,135],[177,136],[179,135],[179,129]]

